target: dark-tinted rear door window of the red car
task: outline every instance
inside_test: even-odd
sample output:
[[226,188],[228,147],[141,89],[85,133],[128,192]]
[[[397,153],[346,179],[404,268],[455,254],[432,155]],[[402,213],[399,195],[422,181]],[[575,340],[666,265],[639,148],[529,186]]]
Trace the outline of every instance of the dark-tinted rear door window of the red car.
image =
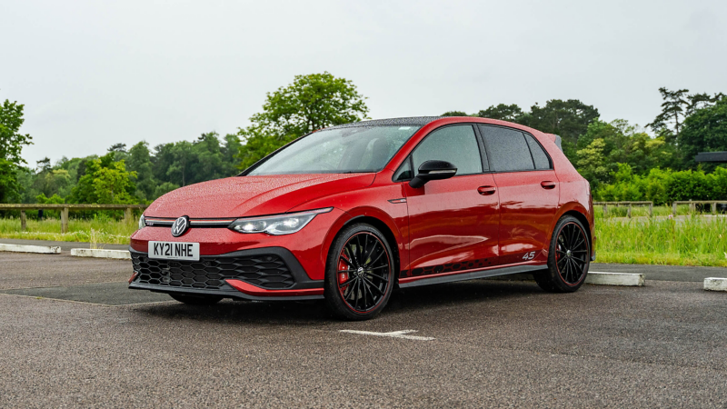
[[535,170],[522,132],[497,126],[480,126],[487,144],[490,168],[497,172]]

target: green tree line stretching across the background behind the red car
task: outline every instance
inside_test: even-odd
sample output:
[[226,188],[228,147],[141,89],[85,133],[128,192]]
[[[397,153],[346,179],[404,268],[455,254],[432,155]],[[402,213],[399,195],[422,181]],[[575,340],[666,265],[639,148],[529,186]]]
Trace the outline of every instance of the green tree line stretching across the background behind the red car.
[[[727,171],[693,160],[698,152],[727,151],[727,98],[686,89],[659,92],[661,112],[646,128],[623,119],[605,122],[597,108],[575,99],[553,99],[529,110],[500,104],[472,115],[443,115],[502,119],[560,135],[563,152],[599,200],[727,198],[722,181]],[[209,132],[154,148],[144,141],[128,149],[120,143],[104,155],[64,157],[55,164],[45,158],[35,167],[20,155],[32,144],[30,135],[20,133],[24,106],[6,100],[0,106],[0,202],[150,203],[184,185],[235,175],[316,129],[367,119],[365,100],[344,78],[297,75],[292,84],[268,93],[251,125],[234,134]]]

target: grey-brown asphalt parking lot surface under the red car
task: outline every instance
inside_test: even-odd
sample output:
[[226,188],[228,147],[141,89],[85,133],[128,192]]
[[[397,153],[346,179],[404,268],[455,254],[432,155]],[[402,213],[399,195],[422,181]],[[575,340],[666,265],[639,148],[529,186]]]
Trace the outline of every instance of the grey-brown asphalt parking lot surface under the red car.
[[441,284],[351,323],[315,302],[179,304],[127,290],[130,273],[0,254],[0,406],[727,405],[727,294],[696,278]]

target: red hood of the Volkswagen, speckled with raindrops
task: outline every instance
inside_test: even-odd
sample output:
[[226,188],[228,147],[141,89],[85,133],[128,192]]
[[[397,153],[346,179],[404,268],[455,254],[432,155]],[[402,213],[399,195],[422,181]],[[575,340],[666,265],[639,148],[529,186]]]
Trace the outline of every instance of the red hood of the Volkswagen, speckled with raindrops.
[[144,212],[153,217],[243,217],[285,213],[305,202],[364,188],[375,174],[235,176],[176,189]]

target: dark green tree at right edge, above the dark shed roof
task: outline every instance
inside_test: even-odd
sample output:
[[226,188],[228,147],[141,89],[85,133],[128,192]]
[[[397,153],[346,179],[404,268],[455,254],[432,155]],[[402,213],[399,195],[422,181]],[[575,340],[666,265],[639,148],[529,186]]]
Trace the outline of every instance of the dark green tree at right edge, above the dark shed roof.
[[[694,155],[700,152],[727,151],[727,98],[688,116],[678,142],[684,165],[692,168],[696,166]],[[712,169],[714,165],[703,167]]]

